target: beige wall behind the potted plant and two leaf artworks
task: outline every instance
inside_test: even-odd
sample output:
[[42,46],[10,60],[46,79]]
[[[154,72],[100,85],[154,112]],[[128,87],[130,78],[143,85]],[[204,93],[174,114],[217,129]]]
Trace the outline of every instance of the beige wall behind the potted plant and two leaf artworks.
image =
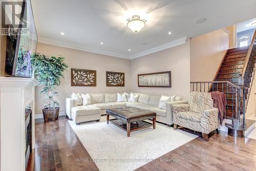
[[[62,55],[65,57],[69,68],[64,73],[61,86],[56,91],[56,99],[60,103],[60,111],[65,111],[65,98],[72,92],[77,93],[113,93],[130,92],[130,71],[131,60],[112,56],[100,55],[69,48],[62,48],[47,44],[37,44],[37,52],[45,55]],[[89,69],[97,71],[97,87],[71,87],[70,68]],[[125,73],[125,87],[106,87],[106,71],[116,71]],[[41,114],[44,107],[44,95],[38,95],[40,87],[36,87],[35,114]]]

